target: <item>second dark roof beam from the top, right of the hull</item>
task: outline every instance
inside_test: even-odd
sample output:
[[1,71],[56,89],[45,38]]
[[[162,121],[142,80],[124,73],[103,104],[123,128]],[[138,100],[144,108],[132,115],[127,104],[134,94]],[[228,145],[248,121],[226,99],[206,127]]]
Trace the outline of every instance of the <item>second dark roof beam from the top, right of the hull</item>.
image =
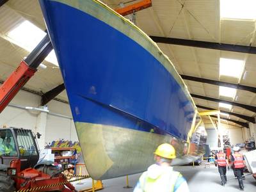
[[245,85],[234,84],[234,83],[226,83],[223,81],[215,81],[215,80],[211,80],[211,79],[204,79],[204,78],[193,77],[193,76],[185,76],[185,75],[180,75],[180,76],[182,77],[182,79],[186,79],[189,81],[197,81],[197,82],[201,82],[201,83],[215,84],[218,86],[227,86],[230,88],[236,88],[238,90],[245,90],[248,92],[256,93],[256,88],[252,87],[252,86],[245,86]]

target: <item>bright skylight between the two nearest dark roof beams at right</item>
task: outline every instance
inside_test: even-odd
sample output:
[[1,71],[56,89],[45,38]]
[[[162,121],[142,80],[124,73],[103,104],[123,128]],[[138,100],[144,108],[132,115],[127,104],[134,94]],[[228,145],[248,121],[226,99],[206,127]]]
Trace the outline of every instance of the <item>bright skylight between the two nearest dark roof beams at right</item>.
[[220,76],[240,78],[244,70],[243,60],[220,58]]

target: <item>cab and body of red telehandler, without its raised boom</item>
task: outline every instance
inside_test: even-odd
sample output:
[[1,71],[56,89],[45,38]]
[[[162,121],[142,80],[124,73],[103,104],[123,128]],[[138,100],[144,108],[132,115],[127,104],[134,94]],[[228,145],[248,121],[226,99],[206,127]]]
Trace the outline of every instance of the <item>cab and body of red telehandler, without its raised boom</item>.
[[38,163],[39,150],[31,130],[0,129],[0,159],[0,192],[76,191],[52,162]]

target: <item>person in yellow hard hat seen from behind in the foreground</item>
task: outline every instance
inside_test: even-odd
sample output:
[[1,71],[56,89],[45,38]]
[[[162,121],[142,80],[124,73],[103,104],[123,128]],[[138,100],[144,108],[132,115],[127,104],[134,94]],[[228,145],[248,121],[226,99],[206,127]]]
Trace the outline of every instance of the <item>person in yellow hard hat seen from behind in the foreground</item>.
[[179,172],[173,171],[172,159],[176,158],[175,148],[168,143],[157,147],[154,152],[156,164],[144,172],[134,192],[188,192],[188,184]]

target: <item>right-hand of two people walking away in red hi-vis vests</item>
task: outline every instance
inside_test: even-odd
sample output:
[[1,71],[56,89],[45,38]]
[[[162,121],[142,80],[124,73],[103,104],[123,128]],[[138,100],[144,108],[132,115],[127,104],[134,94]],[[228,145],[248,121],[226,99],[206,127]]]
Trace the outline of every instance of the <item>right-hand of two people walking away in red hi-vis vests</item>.
[[243,184],[243,170],[245,166],[244,157],[241,153],[239,153],[240,147],[234,147],[234,154],[231,155],[231,163],[232,168],[234,169],[234,173],[236,173],[239,189],[244,190],[244,184]]

